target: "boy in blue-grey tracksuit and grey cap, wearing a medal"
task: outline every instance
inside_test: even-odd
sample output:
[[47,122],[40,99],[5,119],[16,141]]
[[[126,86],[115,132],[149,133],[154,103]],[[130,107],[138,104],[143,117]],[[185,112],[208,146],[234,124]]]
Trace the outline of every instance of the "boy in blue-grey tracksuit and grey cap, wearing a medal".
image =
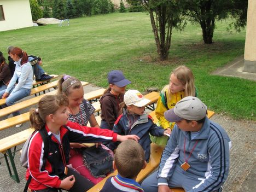
[[222,191],[229,173],[231,141],[225,130],[206,117],[196,97],[184,97],[165,118],[176,122],[162,154],[159,171],[142,183],[144,191]]

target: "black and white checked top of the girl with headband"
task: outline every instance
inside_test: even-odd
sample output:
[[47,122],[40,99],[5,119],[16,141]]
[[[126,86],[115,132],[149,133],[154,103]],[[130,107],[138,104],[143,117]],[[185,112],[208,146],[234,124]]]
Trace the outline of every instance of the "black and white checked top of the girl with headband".
[[[89,101],[87,101],[87,100],[85,100],[85,101],[87,104],[89,114],[86,114],[84,103],[82,102],[79,106],[80,111],[77,114],[74,114],[74,115],[69,114],[69,118],[68,118],[69,121],[78,123],[79,125],[82,125],[82,126],[86,126],[88,124],[88,120],[89,120],[91,114],[94,114],[95,108],[94,108],[94,106],[91,105],[91,103]],[[82,120],[82,118],[83,118],[83,120]]]

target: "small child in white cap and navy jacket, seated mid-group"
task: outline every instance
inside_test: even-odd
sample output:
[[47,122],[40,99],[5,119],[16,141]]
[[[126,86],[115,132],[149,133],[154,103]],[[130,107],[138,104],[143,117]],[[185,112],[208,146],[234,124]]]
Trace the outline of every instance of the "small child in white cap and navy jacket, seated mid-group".
[[[150,156],[150,137],[149,133],[154,136],[163,136],[164,133],[171,133],[171,129],[162,129],[153,123],[152,117],[144,112],[145,105],[150,100],[137,90],[128,90],[124,95],[123,114],[115,121],[113,131],[119,135],[137,135],[138,141],[145,151],[145,160],[149,161]],[[118,143],[110,142],[109,149],[117,148]]]

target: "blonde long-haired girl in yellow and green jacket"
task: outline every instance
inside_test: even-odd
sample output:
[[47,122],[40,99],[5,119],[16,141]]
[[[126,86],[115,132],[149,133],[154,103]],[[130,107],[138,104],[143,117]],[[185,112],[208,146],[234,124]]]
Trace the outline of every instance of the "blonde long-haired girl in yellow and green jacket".
[[[156,118],[159,120],[159,125],[164,129],[173,129],[175,122],[169,122],[164,117],[164,112],[172,109],[175,104],[187,96],[197,96],[195,80],[192,71],[186,66],[175,68],[170,75],[170,82],[160,92],[158,104],[155,109]],[[160,146],[166,146],[167,137],[151,136],[153,143]]]

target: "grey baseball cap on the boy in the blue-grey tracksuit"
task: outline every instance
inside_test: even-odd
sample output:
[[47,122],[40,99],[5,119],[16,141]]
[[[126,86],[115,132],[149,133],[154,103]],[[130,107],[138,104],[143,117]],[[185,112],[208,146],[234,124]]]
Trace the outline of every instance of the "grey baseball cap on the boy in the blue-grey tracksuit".
[[182,119],[198,121],[205,118],[207,106],[197,97],[184,97],[173,109],[164,113],[165,119],[177,122]]

